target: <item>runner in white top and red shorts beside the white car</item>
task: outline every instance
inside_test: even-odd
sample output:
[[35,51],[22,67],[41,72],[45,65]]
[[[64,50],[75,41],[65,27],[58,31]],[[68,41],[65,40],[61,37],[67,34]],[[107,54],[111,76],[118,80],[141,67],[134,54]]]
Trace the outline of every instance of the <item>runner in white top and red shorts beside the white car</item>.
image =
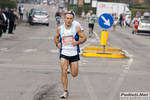
[[138,26],[139,26],[139,24],[141,24],[141,20],[140,20],[139,16],[136,15],[136,17],[133,18],[132,22],[134,24],[134,36],[136,36],[137,32],[138,32]]

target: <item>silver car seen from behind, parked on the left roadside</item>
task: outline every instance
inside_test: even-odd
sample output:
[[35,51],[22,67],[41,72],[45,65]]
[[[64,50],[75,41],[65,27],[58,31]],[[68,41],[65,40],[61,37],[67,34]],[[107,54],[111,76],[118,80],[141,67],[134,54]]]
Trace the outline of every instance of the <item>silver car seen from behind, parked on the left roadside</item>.
[[45,24],[49,26],[49,15],[42,9],[32,9],[29,14],[29,23],[33,24]]

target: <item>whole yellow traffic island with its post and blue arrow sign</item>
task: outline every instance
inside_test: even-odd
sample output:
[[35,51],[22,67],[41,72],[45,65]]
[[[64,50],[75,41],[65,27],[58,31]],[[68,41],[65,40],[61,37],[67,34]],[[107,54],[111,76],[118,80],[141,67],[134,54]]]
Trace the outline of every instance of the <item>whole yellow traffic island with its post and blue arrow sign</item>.
[[107,45],[107,39],[109,32],[107,31],[114,24],[114,19],[110,14],[104,13],[99,19],[98,23],[103,30],[101,31],[102,46],[87,46],[82,55],[87,57],[108,57],[108,58],[125,58],[124,52],[121,48],[117,47],[105,47]]

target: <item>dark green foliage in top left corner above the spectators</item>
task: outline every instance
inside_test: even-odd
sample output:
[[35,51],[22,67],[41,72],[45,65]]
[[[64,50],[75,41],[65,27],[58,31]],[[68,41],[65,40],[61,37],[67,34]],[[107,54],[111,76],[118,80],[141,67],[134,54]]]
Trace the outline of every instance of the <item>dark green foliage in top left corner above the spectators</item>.
[[4,9],[5,7],[10,8],[16,8],[17,4],[14,1],[0,1],[1,9]]

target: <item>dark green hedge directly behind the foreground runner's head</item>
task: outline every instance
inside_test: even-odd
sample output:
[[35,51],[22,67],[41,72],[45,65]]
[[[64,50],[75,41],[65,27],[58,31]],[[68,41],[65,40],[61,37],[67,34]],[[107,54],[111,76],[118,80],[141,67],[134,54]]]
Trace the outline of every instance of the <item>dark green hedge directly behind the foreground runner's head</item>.
[[68,9],[72,9],[77,15],[81,15],[83,9],[85,13],[88,13],[90,10],[93,10],[93,13],[96,14],[96,8],[92,8],[91,5],[84,5],[83,7],[80,7],[78,5],[68,5]]

